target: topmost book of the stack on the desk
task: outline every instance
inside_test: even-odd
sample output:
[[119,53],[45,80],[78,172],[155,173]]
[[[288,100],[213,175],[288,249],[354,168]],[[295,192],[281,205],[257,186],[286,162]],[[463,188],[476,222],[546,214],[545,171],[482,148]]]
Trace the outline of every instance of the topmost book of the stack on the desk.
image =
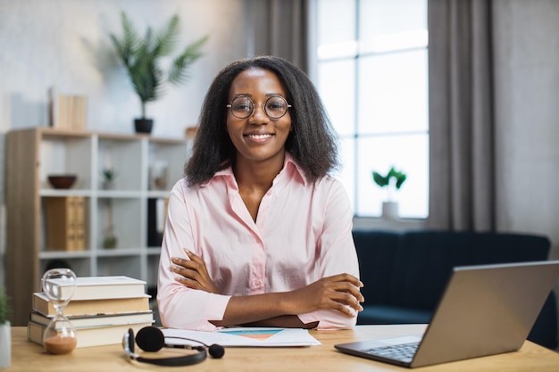
[[[71,286],[64,279],[51,279],[60,286],[62,298],[67,298]],[[77,277],[71,301],[141,297],[146,294],[146,282],[133,277]]]

